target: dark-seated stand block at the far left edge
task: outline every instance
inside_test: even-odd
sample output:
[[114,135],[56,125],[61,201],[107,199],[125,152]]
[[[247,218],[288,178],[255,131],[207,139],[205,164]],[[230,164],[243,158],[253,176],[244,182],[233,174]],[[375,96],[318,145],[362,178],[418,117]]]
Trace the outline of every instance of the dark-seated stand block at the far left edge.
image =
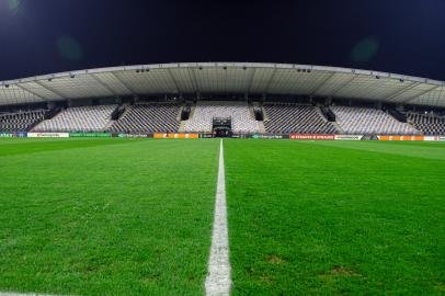
[[11,114],[0,114],[1,132],[27,132],[43,121],[46,110],[25,111]]

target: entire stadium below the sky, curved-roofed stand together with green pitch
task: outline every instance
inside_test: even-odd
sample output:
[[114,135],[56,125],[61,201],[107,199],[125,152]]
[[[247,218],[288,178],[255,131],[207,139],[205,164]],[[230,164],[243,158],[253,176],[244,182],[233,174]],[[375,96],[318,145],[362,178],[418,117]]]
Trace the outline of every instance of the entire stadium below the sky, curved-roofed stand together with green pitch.
[[445,295],[444,88],[251,62],[2,81],[0,296]]

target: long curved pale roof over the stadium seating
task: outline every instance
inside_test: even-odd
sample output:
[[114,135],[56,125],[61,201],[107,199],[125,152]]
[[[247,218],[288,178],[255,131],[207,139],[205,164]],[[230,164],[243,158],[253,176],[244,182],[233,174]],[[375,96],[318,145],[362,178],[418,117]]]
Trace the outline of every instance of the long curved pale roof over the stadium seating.
[[260,62],[78,70],[0,82],[0,105],[179,93],[294,94],[445,106],[445,82],[378,71]]

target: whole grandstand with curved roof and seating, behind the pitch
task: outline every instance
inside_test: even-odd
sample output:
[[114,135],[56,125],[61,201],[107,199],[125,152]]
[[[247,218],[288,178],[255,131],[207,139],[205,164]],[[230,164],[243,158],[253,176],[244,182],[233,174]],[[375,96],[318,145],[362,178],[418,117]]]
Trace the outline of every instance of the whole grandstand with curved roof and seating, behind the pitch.
[[0,130],[3,137],[438,139],[444,88],[425,78],[287,64],[100,68],[0,82]]

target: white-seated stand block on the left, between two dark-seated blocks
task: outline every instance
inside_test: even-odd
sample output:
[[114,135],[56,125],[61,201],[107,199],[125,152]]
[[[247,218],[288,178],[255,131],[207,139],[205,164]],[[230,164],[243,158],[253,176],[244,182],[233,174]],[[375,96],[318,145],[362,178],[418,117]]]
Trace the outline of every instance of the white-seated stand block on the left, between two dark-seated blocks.
[[34,132],[104,132],[117,105],[68,107],[52,119],[38,124]]

